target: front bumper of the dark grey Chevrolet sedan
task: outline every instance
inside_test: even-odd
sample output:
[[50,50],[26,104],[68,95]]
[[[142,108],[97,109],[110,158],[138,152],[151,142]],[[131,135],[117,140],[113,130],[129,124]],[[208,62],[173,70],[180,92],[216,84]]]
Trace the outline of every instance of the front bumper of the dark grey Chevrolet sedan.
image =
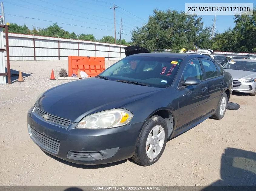
[[27,114],[30,138],[45,152],[76,164],[106,164],[131,158],[143,122],[112,129],[75,129],[49,123],[42,116]]

